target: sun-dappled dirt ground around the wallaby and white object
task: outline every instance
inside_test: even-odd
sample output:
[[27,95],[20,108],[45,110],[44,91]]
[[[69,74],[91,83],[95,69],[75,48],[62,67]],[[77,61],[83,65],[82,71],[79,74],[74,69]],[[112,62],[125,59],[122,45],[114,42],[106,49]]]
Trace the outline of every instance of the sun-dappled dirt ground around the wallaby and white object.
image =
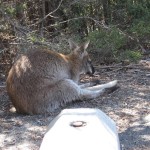
[[[117,79],[119,88],[109,95],[65,108],[99,108],[116,122],[122,150],[150,149],[150,61],[96,66],[96,70],[94,77],[85,76],[81,81],[105,83]],[[63,108],[45,116],[16,114],[10,110],[3,75],[0,79],[0,150],[38,150],[47,125]]]

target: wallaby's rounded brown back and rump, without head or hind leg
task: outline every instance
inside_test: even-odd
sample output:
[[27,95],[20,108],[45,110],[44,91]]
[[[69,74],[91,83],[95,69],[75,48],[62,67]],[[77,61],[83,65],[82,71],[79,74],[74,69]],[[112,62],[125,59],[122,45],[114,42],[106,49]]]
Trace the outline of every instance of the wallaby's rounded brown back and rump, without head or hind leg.
[[49,50],[31,50],[20,56],[7,78],[7,91],[17,111],[38,113],[36,109],[45,105],[46,88],[70,78],[68,65],[60,54]]

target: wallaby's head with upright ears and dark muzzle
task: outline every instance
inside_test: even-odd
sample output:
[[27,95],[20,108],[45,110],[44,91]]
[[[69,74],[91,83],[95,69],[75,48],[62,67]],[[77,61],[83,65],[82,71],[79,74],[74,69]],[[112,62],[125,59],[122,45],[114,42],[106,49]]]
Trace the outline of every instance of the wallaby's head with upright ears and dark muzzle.
[[77,63],[80,66],[80,73],[85,73],[93,75],[95,69],[92,65],[91,59],[86,51],[90,41],[77,45],[73,41],[69,40],[70,49],[72,50],[72,55],[76,59]]

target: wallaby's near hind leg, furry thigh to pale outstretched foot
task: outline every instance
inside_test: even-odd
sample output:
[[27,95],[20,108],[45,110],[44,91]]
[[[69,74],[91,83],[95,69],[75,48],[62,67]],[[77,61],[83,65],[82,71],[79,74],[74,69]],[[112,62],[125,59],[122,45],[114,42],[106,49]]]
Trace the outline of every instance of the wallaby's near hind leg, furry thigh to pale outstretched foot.
[[[47,109],[53,111],[54,109],[64,106],[66,103],[76,100],[90,100],[97,98],[105,92],[105,88],[113,87],[117,84],[117,81],[112,81],[106,84],[97,85],[93,87],[81,88],[78,84],[72,80],[65,79],[47,91],[46,97],[48,100]],[[45,98],[46,98],[45,97]]]

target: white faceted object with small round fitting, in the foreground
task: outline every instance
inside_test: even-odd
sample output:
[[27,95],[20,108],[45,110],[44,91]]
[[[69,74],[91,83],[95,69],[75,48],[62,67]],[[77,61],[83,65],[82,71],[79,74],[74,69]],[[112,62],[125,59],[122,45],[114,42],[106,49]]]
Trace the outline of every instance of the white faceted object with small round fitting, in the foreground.
[[120,150],[116,125],[99,109],[63,110],[49,125],[40,150]]

